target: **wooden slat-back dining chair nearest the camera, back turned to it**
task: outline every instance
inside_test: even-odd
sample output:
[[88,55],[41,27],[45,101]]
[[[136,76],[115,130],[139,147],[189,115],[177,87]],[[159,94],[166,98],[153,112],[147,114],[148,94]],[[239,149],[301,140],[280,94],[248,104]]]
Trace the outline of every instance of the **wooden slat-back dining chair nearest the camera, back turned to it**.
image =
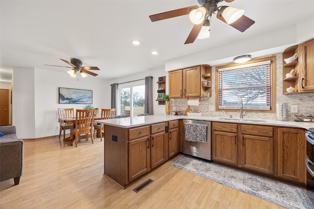
[[[77,110],[75,127],[70,130],[70,144],[73,145],[75,141],[75,147],[78,147],[78,136],[85,134],[86,140],[88,140],[88,134],[90,134],[92,143],[94,143],[92,124],[94,123],[94,110]],[[75,136],[75,139],[74,139]]]

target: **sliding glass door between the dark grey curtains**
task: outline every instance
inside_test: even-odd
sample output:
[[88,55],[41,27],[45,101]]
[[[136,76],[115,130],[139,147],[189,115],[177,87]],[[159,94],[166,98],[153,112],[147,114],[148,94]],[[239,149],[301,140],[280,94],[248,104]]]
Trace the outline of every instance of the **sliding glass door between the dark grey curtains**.
[[145,80],[119,85],[117,115],[137,116],[144,113]]

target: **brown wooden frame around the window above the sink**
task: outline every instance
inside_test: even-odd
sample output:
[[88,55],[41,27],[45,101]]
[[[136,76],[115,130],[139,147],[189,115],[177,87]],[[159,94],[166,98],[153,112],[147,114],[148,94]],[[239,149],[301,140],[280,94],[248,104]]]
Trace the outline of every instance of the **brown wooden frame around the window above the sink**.
[[[223,111],[223,109],[219,109],[219,91],[218,91],[218,77],[219,77],[219,69],[222,68],[229,68],[229,67],[236,67],[238,66],[239,69],[241,68],[241,66],[246,65],[246,64],[251,64],[251,63],[258,63],[258,62],[262,62],[262,61],[267,61],[270,60],[270,76],[271,76],[271,81],[270,81],[270,110],[246,110],[247,112],[255,112],[255,113],[275,113],[276,112],[276,56],[268,56],[268,57],[263,57],[263,58],[259,58],[259,59],[253,59],[250,60],[249,62],[246,63],[232,63],[232,64],[227,64],[227,65],[221,65],[221,66],[216,66],[216,102],[215,102],[215,106],[216,106],[216,111],[217,112],[221,112]],[[228,109],[228,111],[231,112],[237,112],[239,110],[239,108],[237,109]]]

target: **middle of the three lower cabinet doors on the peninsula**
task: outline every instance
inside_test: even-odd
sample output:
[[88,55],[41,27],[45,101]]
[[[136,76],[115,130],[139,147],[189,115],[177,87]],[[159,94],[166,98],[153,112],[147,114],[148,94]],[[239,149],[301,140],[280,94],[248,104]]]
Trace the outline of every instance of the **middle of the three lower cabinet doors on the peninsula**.
[[157,167],[166,161],[166,139],[165,133],[151,135],[151,166]]

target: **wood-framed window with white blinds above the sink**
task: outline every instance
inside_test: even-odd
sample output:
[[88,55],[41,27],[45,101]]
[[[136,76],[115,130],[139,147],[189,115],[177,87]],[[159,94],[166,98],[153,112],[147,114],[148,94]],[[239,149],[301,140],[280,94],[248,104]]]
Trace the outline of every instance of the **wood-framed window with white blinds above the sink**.
[[274,63],[275,57],[267,57],[244,65],[217,67],[218,109],[239,109],[242,98],[244,109],[273,112]]

